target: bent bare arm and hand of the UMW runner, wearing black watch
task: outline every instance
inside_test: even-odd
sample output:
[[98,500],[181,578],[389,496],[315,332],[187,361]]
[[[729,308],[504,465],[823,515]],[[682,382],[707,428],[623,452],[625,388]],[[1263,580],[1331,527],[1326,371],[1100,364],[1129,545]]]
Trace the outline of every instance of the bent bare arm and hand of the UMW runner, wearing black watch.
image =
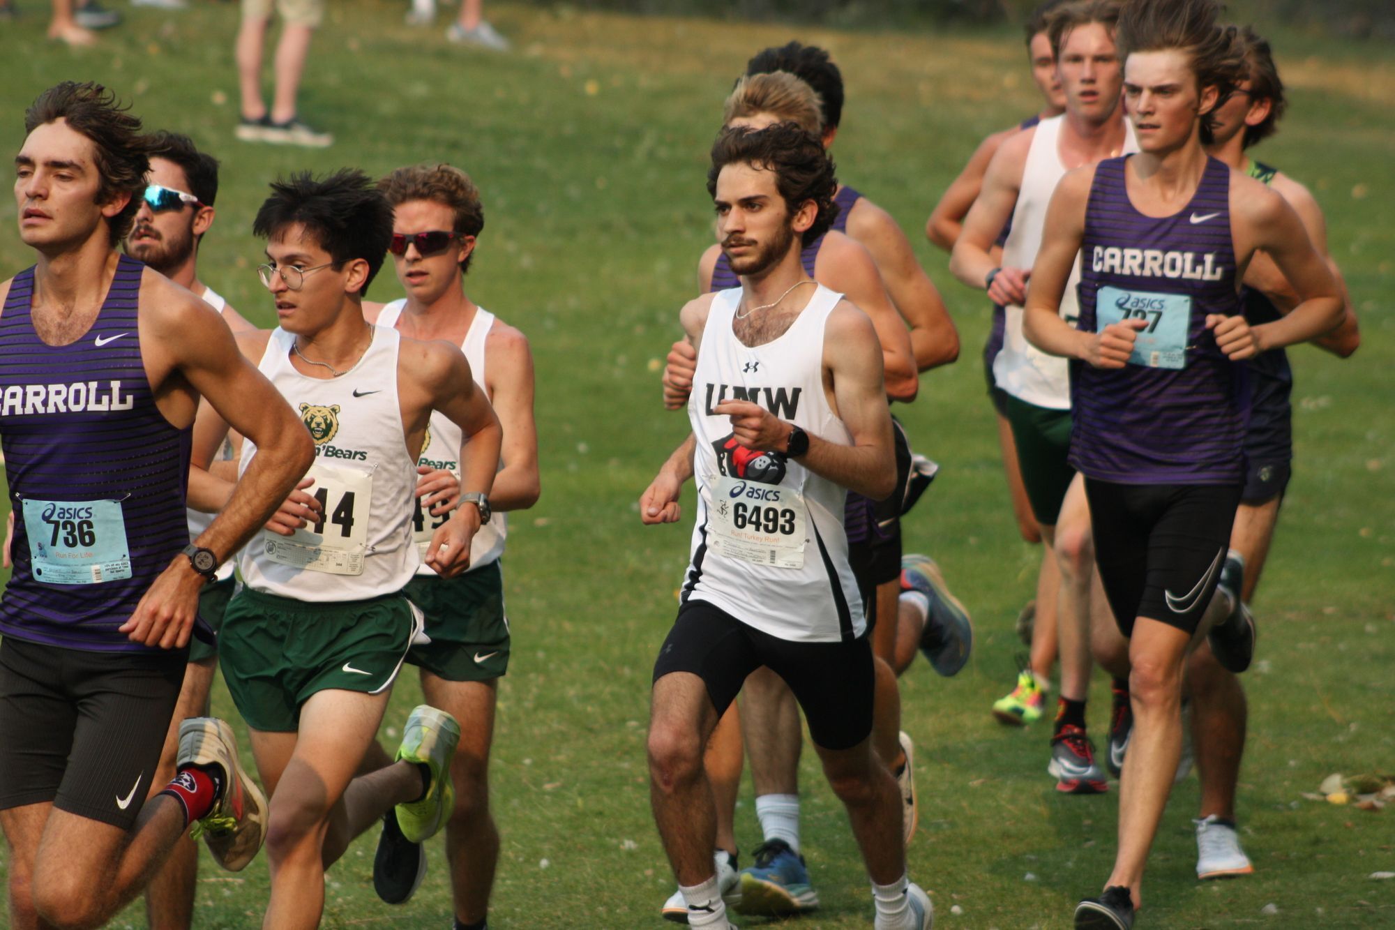
[[[882,384],[876,331],[866,314],[844,302],[824,330],[823,363],[833,378],[838,419],[852,444],[844,445],[809,433],[809,451],[799,461],[815,475],[873,500],[896,490],[896,452],[891,447],[891,412]],[[731,430],[744,447],[788,452],[792,425],[749,401],[725,401],[714,412],[731,418]]]

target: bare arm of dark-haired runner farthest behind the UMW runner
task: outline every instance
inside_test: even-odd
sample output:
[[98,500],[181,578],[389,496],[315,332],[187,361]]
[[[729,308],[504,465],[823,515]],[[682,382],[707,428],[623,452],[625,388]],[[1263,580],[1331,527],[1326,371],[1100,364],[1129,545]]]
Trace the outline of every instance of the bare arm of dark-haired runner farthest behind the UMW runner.
[[915,260],[911,240],[891,215],[865,197],[852,205],[848,235],[862,243],[891,297],[911,327],[911,355],[918,371],[949,364],[958,357],[958,331],[944,300]]

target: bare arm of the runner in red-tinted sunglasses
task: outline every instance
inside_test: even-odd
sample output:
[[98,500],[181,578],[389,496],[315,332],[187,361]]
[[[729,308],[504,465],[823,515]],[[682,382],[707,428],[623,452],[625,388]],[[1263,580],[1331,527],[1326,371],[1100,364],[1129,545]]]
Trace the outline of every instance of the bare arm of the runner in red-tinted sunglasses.
[[543,493],[533,419],[533,353],[513,327],[498,323],[485,339],[490,398],[504,430],[504,468],[494,476],[490,508],[527,510]]

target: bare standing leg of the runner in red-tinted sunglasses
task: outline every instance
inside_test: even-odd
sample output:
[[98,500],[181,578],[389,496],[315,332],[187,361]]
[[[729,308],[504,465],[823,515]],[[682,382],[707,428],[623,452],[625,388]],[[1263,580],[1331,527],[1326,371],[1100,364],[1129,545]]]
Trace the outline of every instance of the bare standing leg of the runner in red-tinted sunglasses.
[[460,744],[451,764],[455,810],[445,828],[445,850],[455,916],[462,923],[476,923],[490,909],[499,860],[499,831],[490,814],[490,746],[498,680],[446,681],[423,672],[421,690],[427,704],[460,722]]

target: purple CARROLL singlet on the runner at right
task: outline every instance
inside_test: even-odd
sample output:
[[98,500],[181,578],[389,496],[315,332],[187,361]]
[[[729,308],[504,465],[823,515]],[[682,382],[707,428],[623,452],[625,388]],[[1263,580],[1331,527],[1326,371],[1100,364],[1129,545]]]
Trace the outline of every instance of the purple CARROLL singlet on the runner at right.
[[1123,485],[1239,485],[1246,366],[1222,355],[1207,314],[1240,313],[1230,169],[1208,158],[1191,202],[1144,216],[1129,200],[1129,156],[1095,169],[1081,243],[1080,328],[1148,323],[1123,369],[1074,363],[1070,464]]

